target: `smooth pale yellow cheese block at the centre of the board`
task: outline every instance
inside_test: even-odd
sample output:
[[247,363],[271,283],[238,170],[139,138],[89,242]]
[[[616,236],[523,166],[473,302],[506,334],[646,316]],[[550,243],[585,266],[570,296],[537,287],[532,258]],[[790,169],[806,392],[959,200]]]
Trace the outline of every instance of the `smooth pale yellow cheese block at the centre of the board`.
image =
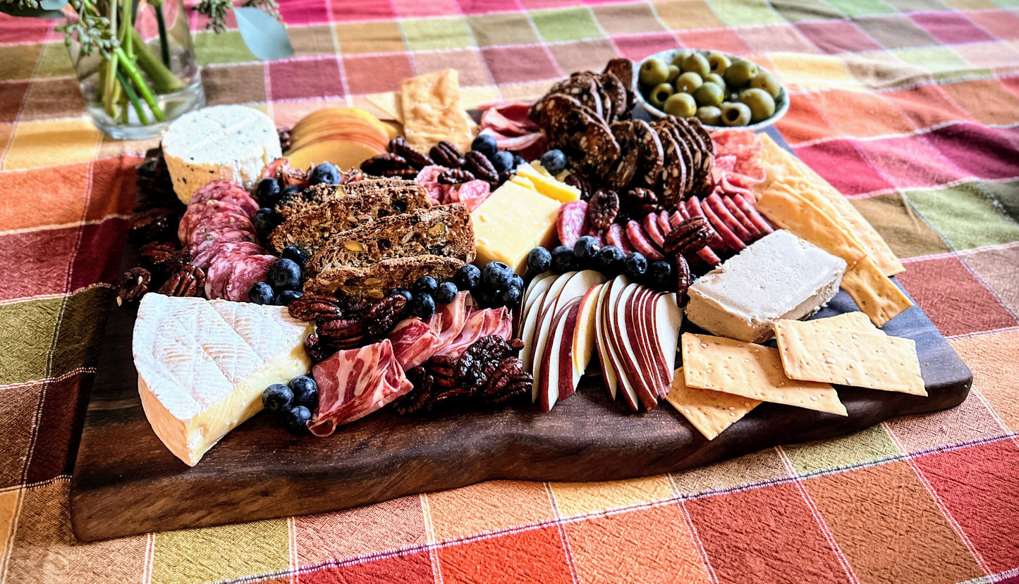
[[555,240],[558,201],[504,182],[471,213],[477,262],[503,261],[517,274],[527,270],[531,249]]

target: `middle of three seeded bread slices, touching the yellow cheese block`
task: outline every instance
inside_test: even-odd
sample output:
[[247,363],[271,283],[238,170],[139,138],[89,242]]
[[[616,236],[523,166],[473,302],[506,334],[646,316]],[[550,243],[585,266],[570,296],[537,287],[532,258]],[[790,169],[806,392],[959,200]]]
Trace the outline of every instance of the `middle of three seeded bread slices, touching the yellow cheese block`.
[[462,202],[440,205],[377,219],[337,234],[328,247],[308,260],[305,272],[315,276],[336,268],[366,268],[383,259],[440,255],[461,261],[474,259],[474,226]]

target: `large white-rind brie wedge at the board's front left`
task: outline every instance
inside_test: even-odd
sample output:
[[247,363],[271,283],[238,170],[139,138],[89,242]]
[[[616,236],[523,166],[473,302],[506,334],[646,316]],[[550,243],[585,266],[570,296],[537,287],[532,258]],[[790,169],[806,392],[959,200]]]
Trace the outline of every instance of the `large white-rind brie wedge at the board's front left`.
[[195,466],[262,409],[265,388],[308,372],[312,332],[283,306],[146,294],[132,353],[152,429]]

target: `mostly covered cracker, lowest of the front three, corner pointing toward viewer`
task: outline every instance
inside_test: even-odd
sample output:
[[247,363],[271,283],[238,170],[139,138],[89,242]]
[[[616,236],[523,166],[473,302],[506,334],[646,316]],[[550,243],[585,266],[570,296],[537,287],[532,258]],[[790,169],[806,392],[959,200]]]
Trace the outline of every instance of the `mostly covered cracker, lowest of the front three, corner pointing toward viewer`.
[[701,390],[687,386],[683,378],[683,367],[673,375],[673,389],[665,396],[683,417],[693,424],[707,440],[721,433],[740,418],[760,405],[760,400],[752,400],[713,390]]

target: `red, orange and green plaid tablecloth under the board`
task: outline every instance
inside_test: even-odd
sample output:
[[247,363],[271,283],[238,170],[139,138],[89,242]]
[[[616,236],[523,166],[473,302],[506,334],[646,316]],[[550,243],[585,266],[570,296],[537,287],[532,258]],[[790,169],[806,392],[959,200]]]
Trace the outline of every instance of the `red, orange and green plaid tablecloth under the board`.
[[69,475],[151,143],[103,137],[52,23],[5,17],[0,582],[1019,582],[1015,0],[280,4],[297,50],[281,62],[193,15],[210,103],[287,125],[444,67],[469,103],[533,98],[676,47],[771,68],[792,92],[783,135],[904,258],[973,391],[949,411],[674,475],[488,482],[79,544]]

